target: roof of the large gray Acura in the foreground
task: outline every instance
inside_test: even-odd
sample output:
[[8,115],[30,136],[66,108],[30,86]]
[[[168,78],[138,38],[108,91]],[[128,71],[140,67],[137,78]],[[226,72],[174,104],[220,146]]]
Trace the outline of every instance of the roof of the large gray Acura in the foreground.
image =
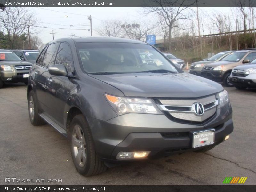
[[70,42],[73,41],[75,43],[86,43],[86,42],[117,42],[117,43],[137,43],[137,44],[147,44],[143,41],[134,40],[134,39],[125,39],[125,38],[119,38],[119,37],[65,37],[56,39],[53,41],[50,41],[47,44],[51,44],[54,42],[59,41],[66,41]]

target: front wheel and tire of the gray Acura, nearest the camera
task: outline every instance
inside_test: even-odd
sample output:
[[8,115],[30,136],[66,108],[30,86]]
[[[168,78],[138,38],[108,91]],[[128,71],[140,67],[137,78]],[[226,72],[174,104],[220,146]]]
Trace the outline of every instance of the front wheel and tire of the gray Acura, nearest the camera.
[[68,138],[77,172],[84,176],[91,176],[106,171],[106,165],[95,152],[92,134],[83,115],[76,115],[73,118]]

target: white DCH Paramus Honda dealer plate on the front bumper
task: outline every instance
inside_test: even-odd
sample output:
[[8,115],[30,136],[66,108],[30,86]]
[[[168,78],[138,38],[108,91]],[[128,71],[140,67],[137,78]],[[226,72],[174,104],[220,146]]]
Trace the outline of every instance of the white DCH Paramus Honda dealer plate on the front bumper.
[[192,148],[212,145],[214,143],[215,129],[193,132]]

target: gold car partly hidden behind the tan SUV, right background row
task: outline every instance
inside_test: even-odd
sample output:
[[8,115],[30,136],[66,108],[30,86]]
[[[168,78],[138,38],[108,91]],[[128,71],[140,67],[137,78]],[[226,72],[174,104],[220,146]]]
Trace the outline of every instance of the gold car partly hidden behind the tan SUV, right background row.
[[220,61],[221,59],[223,59],[224,57],[226,57],[227,55],[229,55],[232,52],[234,52],[234,51],[219,52],[216,55],[213,55],[209,59],[204,59],[202,61],[191,63],[191,66],[190,66],[190,69],[188,70],[188,72],[191,73],[191,74],[194,74],[194,75],[201,76],[201,71],[204,68],[204,65],[210,64],[210,63],[213,63],[213,62],[218,62],[218,61]]

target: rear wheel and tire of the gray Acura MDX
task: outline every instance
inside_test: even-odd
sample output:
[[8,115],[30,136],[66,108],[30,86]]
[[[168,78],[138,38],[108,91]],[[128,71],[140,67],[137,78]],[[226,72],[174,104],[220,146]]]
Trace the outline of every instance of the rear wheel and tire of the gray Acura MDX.
[[29,95],[28,95],[28,114],[29,114],[30,123],[32,125],[35,125],[35,126],[44,125],[46,123],[39,116],[38,106],[37,106],[37,103],[35,101],[36,100],[35,100],[34,92],[30,91]]

